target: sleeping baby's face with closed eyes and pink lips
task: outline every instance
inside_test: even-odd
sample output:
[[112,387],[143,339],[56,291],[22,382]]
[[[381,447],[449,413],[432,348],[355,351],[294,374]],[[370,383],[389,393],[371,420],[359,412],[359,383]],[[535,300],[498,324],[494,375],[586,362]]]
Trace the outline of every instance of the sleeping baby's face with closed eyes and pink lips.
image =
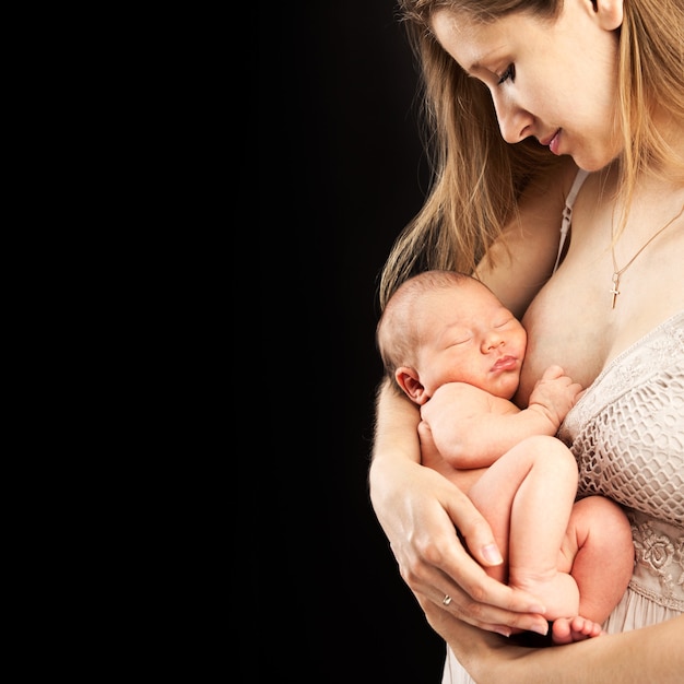
[[468,382],[510,399],[520,379],[527,333],[481,283],[427,295],[420,312],[421,380],[429,396],[445,382]]

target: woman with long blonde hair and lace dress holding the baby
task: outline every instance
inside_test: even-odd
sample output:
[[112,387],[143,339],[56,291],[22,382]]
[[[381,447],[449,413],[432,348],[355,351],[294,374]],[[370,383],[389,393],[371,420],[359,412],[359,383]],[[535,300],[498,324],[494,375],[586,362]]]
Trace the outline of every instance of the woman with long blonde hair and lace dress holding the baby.
[[491,530],[420,465],[418,413],[384,384],[370,496],[449,646],[444,681],[471,681],[462,665],[479,682],[586,682],[588,668],[597,681],[681,681],[684,3],[400,5],[423,70],[435,180],[388,259],[381,305],[412,273],[450,268],[472,270],[523,316],[517,403],[554,363],[588,388],[559,436],[580,496],[626,508],[637,557],[608,636],[521,649],[492,634],[545,634],[543,605],[486,576],[482,566],[500,563]]

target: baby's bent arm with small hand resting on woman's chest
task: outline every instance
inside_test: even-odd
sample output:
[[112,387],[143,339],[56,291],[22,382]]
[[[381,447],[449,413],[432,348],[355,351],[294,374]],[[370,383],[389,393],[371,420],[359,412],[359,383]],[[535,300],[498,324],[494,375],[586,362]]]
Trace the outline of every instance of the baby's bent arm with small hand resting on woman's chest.
[[526,437],[555,435],[581,386],[559,366],[550,367],[530,396],[530,405],[493,397],[464,382],[440,387],[421,408],[435,446],[453,468],[486,468]]

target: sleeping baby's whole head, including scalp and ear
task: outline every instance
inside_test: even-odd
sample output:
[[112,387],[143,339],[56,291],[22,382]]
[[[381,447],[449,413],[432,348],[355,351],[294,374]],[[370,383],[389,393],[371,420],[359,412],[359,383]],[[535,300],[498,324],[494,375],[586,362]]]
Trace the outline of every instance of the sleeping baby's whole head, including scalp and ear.
[[510,399],[527,346],[524,329],[488,287],[439,270],[397,288],[376,340],[387,375],[420,404],[445,382],[468,382]]

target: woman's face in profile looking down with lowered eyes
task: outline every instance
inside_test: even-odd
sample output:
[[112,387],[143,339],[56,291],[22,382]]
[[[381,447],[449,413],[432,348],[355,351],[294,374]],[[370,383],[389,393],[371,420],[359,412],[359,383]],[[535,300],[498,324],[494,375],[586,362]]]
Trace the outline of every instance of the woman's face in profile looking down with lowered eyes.
[[[599,5],[600,7],[600,5]],[[590,0],[566,0],[556,21],[511,14],[492,23],[439,10],[440,45],[492,93],[504,140],[533,135],[586,170],[621,152],[617,34]]]

